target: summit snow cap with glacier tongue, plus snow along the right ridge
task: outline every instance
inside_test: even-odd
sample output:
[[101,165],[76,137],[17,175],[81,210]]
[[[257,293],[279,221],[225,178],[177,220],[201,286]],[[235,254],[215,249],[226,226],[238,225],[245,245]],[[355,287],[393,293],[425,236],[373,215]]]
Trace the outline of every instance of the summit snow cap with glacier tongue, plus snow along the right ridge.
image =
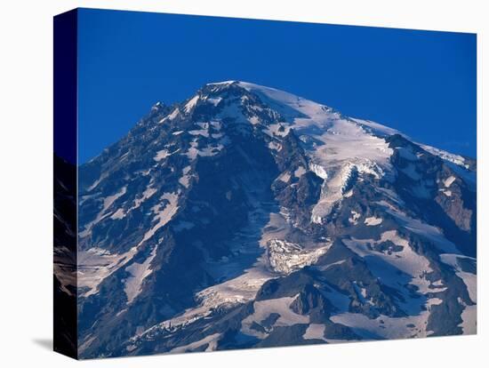
[[[368,120],[341,116],[333,108],[288,92],[246,82],[237,84],[248,92],[257,94],[261,100],[285,117],[285,123],[269,124],[264,128],[264,132],[280,138],[292,128],[302,138],[309,137],[310,140],[324,143],[306,148],[312,164],[327,168],[325,172],[320,173],[313,170],[325,180],[321,198],[311,216],[313,222],[320,223],[333,206],[344,198],[339,193],[341,180],[337,177],[344,174],[345,167],[354,165],[360,175],[372,173],[377,179],[385,177],[392,180],[393,170],[389,158],[393,154],[393,149],[389,148],[385,137],[401,134],[397,130]],[[279,131],[280,127],[283,128],[282,132]],[[429,146],[421,147],[442,157],[448,163],[460,166],[459,168],[464,171],[464,180],[472,183],[472,187],[475,188],[475,175],[466,170],[468,165],[463,157]],[[418,159],[412,148],[398,149],[399,154],[405,159],[412,162]],[[413,165],[408,165],[405,173],[413,180],[421,179]],[[423,198],[429,196],[424,184],[413,188],[413,194]]]

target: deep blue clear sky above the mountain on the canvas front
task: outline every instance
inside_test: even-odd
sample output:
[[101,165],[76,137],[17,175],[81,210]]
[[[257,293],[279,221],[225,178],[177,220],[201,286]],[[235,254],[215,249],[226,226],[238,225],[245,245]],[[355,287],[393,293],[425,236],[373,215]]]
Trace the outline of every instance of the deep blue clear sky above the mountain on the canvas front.
[[476,36],[450,32],[82,9],[79,163],[158,100],[244,80],[476,156]]

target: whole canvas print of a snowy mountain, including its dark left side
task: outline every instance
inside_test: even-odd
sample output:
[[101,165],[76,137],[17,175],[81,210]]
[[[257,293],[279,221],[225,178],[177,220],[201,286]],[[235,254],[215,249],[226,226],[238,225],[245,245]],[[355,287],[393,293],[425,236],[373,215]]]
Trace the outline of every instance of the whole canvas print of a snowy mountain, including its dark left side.
[[476,35],[54,19],[54,348],[477,332]]

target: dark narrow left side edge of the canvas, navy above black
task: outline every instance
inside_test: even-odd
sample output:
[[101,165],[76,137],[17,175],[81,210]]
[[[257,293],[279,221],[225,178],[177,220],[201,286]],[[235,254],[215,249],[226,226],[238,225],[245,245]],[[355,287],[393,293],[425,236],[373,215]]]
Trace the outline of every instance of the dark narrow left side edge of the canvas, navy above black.
[[54,17],[53,348],[74,358],[77,357],[76,29],[76,10]]

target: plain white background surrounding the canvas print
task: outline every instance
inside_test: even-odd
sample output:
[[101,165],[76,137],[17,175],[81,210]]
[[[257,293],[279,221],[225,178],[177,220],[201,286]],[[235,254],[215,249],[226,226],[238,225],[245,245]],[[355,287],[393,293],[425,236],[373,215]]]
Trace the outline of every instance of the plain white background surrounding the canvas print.
[[[76,6],[477,32],[478,335],[87,361],[86,367],[487,366],[485,1],[4,0],[0,3],[0,364],[68,367],[52,340],[52,16]],[[486,22],[486,24],[484,24]],[[481,68],[482,67],[482,68]],[[483,75],[482,72],[485,72]],[[450,108],[447,106],[446,108]],[[485,121],[485,124],[487,121]],[[466,126],[461,122],[461,129]],[[484,226],[485,224],[485,226]],[[30,365],[28,365],[30,364]],[[78,365],[79,366],[79,365]]]

